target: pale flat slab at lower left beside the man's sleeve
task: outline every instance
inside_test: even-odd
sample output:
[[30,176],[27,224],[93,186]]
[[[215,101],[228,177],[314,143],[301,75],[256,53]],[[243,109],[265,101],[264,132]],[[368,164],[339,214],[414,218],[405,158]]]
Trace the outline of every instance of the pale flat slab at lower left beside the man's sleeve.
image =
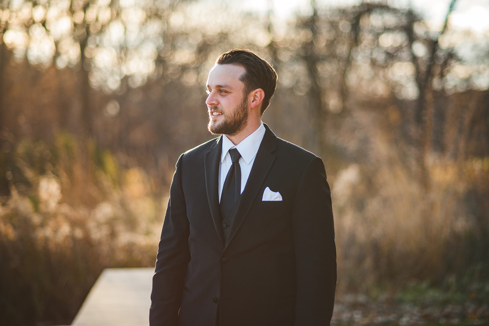
[[74,326],[148,326],[155,268],[106,268],[91,288]]

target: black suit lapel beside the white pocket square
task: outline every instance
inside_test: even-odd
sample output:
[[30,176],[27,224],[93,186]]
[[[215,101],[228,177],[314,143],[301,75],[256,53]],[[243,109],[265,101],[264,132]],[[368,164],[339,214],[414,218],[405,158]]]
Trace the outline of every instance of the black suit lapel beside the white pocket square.
[[231,225],[230,237],[226,246],[233,240],[234,235],[241,224],[243,224],[244,218],[251,208],[251,204],[255,201],[255,198],[275,161],[275,155],[273,155],[272,152],[277,149],[277,136],[275,136],[265,123],[264,125],[266,128],[265,135],[263,136],[262,143],[256,153],[255,162],[253,162],[253,167],[251,168],[246,186],[241,194],[239,208],[234,217],[233,224]]

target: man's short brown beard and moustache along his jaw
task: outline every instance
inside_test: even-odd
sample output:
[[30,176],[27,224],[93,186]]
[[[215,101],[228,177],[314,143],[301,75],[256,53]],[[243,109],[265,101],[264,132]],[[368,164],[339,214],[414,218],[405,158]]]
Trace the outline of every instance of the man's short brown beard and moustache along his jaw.
[[243,101],[234,110],[230,110],[233,113],[224,112],[224,120],[221,123],[215,123],[210,118],[207,124],[209,132],[213,135],[224,134],[233,136],[242,131],[248,121],[247,104],[247,98],[243,96]]

